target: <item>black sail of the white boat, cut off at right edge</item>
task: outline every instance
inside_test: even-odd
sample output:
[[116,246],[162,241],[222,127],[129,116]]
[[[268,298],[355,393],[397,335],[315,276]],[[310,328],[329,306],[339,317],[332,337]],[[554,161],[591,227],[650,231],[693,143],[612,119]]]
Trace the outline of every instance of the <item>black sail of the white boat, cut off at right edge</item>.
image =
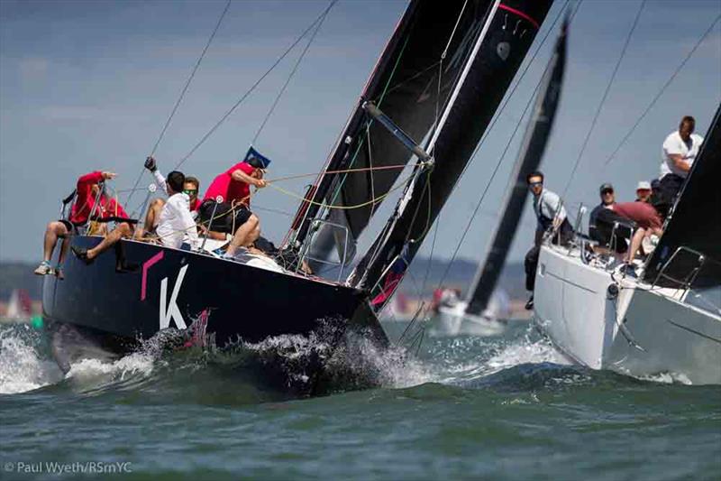
[[[704,263],[698,271],[695,287],[721,285],[721,106],[708,129],[689,177],[681,190],[672,214],[667,219],[659,245],[646,263],[643,277],[654,282],[664,264],[663,274],[676,280],[686,280],[699,266],[698,254]],[[671,256],[681,249],[671,260]],[[662,285],[673,285],[667,277]],[[675,285],[678,287],[678,284]]]

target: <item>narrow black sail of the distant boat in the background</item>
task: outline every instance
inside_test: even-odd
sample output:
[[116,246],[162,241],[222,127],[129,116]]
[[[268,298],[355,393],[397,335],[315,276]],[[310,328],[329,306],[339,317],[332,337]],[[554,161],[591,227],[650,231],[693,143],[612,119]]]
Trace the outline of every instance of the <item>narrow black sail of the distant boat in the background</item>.
[[516,229],[525,208],[525,199],[528,197],[525,176],[538,169],[541,163],[546,143],[551,135],[556,108],[561,100],[563,71],[566,66],[567,32],[568,23],[564,23],[556,41],[553,56],[543,73],[534,111],[526,127],[524,141],[511,172],[506,195],[501,204],[501,218],[491,237],[486,258],[480,264],[468,293],[466,312],[469,314],[478,316],[486,309],[488,300],[496,288],[498,277],[506,264],[508,250],[516,236]]

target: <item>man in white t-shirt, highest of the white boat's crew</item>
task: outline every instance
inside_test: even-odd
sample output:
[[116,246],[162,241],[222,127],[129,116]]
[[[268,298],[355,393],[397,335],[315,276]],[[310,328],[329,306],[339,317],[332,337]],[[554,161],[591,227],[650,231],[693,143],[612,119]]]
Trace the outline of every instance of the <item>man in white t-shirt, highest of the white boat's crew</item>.
[[696,120],[692,116],[681,119],[679,130],[669,134],[663,141],[661,162],[661,191],[669,203],[673,203],[689,175],[691,165],[698,155],[704,138],[694,134]]

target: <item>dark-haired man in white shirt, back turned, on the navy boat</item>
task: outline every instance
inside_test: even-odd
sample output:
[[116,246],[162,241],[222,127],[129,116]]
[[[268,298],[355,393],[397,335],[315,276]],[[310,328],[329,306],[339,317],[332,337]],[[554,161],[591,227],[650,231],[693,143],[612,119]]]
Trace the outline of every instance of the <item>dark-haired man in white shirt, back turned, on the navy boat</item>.
[[155,232],[162,245],[179,249],[186,243],[196,250],[198,247],[196,221],[190,214],[190,197],[183,192],[186,176],[172,171],[165,180],[168,201],[160,210],[160,220]]

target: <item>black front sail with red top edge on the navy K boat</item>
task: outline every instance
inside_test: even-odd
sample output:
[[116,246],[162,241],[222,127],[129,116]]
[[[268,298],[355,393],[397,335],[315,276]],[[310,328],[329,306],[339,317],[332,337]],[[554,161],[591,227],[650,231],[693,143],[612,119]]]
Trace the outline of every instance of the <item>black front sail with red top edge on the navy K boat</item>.
[[453,40],[461,75],[425,148],[434,165],[416,166],[394,215],[349,278],[357,287],[380,288],[374,309],[388,300],[443,208],[551,4],[469,0]]

